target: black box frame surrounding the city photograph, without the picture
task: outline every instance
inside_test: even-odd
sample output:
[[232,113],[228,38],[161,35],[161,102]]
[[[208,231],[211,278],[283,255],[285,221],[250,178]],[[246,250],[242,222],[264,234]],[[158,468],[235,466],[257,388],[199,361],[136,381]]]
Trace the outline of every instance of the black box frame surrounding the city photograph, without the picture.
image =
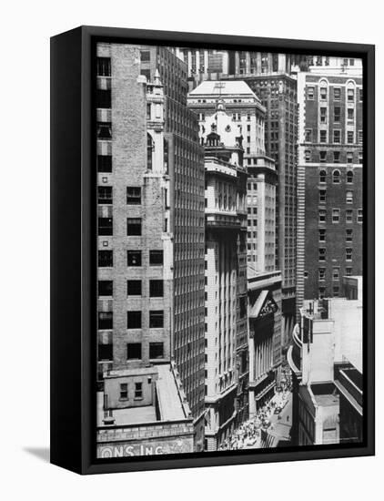
[[[364,425],[362,445],[100,460],[95,453],[96,213],[92,75],[97,41],[359,57],[365,88]],[[375,47],[334,42],[80,26],[51,38],[51,463],[79,474],[375,454]]]

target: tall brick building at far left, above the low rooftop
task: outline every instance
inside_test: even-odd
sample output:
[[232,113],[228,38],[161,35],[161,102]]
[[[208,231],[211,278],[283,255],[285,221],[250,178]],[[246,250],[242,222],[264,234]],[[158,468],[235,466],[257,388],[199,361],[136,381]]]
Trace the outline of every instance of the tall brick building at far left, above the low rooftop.
[[98,381],[175,360],[199,450],[204,161],[187,68],[167,47],[99,44],[97,56]]

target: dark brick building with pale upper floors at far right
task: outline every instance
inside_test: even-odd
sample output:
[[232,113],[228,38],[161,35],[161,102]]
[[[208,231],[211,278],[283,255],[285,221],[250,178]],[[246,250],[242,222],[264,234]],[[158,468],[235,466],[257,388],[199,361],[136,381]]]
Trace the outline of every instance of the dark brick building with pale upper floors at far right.
[[362,272],[362,79],[298,74],[297,308]]

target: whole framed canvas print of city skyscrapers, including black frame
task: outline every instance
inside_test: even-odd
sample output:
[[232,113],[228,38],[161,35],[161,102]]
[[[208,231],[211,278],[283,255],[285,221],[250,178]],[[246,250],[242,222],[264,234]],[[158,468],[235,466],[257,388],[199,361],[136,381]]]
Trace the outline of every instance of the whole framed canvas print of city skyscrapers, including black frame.
[[374,454],[374,46],[51,39],[51,461]]

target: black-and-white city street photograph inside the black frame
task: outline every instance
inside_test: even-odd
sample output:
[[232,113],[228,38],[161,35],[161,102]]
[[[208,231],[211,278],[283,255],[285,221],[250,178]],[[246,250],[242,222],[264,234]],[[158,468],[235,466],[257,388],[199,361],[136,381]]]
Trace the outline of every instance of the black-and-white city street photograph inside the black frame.
[[362,60],[261,50],[96,44],[99,459],[365,440]]

